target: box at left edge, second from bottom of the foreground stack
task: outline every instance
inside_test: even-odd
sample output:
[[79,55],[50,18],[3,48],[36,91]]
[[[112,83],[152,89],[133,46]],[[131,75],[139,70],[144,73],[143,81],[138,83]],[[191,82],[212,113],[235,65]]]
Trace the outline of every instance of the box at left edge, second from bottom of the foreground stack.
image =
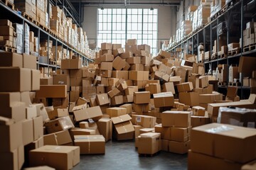
[[13,152],[23,144],[22,123],[0,116],[0,152]]

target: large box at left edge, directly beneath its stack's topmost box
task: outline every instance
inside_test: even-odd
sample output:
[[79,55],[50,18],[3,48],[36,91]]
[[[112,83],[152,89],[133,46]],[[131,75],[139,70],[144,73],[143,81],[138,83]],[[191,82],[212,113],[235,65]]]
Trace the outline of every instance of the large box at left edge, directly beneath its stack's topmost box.
[[1,67],[0,78],[0,91],[31,91],[31,69]]

